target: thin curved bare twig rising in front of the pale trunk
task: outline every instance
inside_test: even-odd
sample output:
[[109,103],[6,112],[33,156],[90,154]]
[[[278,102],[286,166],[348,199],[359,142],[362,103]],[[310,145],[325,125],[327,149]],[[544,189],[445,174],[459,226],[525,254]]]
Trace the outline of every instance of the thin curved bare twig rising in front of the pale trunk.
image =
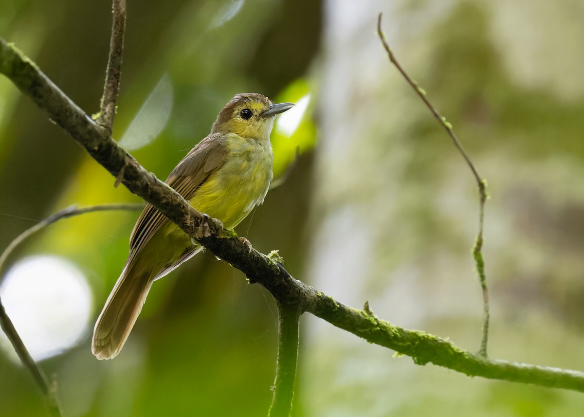
[[426,91],[423,88],[421,88],[420,86],[418,86],[418,83],[416,81],[413,81],[413,79],[408,75],[408,73],[404,70],[404,68],[402,68],[402,66],[399,65],[399,62],[395,58],[393,51],[391,50],[389,44],[387,43],[387,40],[385,39],[385,34],[381,30],[381,16],[382,15],[383,15],[383,13],[379,13],[379,17],[377,19],[377,34],[379,36],[379,39],[381,40],[381,43],[383,43],[383,47],[385,48],[385,51],[387,51],[387,55],[390,58],[391,63],[395,65],[395,67],[398,69],[399,72],[401,72],[401,74],[404,76],[404,78],[406,79],[408,84],[412,86],[412,88],[416,91],[416,93],[418,94],[420,99],[422,99],[423,102],[428,107],[428,109],[430,109],[430,112],[432,112],[434,117],[436,117],[436,119],[439,121],[439,123],[442,124],[442,126],[446,130],[446,133],[452,139],[452,142],[454,143],[454,146],[457,148],[458,152],[460,152],[460,154],[463,155],[463,158],[467,162],[468,168],[471,169],[472,175],[474,176],[475,180],[477,180],[477,186],[478,186],[478,192],[479,192],[479,228],[478,228],[477,239],[476,239],[475,244],[472,248],[472,256],[475,260],[475,265],[477,267],[477,272],[478,272],[479,279],[481,282],[483,301],[484,301],[483,334],[482,334],[481,349],[479,350],[479,354],[486,357],[486,345],[487,345],[488,338],[489,338],[489,294],[488,294],[488,289],[486,286],[485,260],[484,260],[484,256],[482,255],[482,246],[485,243],[485,239],[483,237],[483,223],[484,223],[484,217],[485,217],[485,202],[486,202],[486,199],[488,196],[488,194],[486,193],[486,180],[481,177],[481,175],[478,173],[477,168],[472,163],[470,157],[468,157],[467,152],[465,152],[465,150],[464,150],[463,144],[460,143],[460,140],[458,140],[458,137],[456,136],[456,134],[454,133],[454,130],[452,129],[452,124],[450,124],[449,121],[446,120],[446,117],[442,116],[436,110],[436,107],[434,107],[432,105],[432,103],[429,102],[429,100],[426,98]]

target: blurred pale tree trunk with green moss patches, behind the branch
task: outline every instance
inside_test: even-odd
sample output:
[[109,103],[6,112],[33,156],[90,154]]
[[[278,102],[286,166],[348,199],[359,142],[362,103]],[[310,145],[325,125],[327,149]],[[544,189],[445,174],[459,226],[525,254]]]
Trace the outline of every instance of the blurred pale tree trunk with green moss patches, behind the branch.
[[[584,105],[584,82],[574,66],[584,64],[574,38],[584,35],[584,13],[564,3],[553,11],[545,2],[326,3],[311,211],[316,233],[305,273],[312,285],[355,307],[368,300],[374,313],[395,324],[479,348],[482,296],[471,256],[476,184],[381,48],[375,29],[384,12],[384,31],[398,60],[454,124],[489,182],[491,356],[584,366],[576,354],[581,320],[578,338],[570,324],[570,317],[582,317],[582,304],[569,295],[584,295],[584,224],[579,220],[580,232],[565,234],[549,225],[584,214],[584,126],[575,116]],[[554,47],[564,40],[562,48]],[[566,113],[574,117],[566,121]],[[578,186],[561,185],[573,177]],[[557,249],[550,251],[548,237]],[[571,248],[574,242],[580,252]],[[523,385],[418,367],[307,320],[300,357],[307,415],[482,415],[477,408],[486,415],[493,409],[531,415],[551,407],[550,398],[561,399],[566,415],[575,415],[570,412],[576,412],[578,397],[572,393],[540,395]],[[551,326],[554,336],[534,346],[542,325]]]

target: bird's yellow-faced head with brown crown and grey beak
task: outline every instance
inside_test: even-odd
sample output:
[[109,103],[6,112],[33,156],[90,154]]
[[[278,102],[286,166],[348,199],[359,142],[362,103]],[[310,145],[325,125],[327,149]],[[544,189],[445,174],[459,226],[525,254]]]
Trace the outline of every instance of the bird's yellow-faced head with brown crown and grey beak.
[[273,104],[256,93],[237,94],[217,116],[211,133],[235,133],[260,142],[269,141],[277,114],[294,107],[293,103]]

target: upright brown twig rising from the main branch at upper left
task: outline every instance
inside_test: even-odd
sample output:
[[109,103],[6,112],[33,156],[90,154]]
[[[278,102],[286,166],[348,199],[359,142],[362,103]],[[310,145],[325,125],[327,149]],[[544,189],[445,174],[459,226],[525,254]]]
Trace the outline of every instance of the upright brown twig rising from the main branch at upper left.
[[124,50],[124,29],[126,29],[126,0],[113,0],[112,38],[107,59],[106,82],[97,122],[112,133],[113,118],[116,116],[116,102],[120,88],[121,54]]

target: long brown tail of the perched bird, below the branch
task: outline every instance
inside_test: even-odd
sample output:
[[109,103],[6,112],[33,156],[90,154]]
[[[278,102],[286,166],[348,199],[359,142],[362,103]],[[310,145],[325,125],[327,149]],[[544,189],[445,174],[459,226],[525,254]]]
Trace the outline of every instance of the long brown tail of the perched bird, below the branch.
[[152,286],[151,272],[126,265],[93,329],[91,351],[98,359],[120,353]]

